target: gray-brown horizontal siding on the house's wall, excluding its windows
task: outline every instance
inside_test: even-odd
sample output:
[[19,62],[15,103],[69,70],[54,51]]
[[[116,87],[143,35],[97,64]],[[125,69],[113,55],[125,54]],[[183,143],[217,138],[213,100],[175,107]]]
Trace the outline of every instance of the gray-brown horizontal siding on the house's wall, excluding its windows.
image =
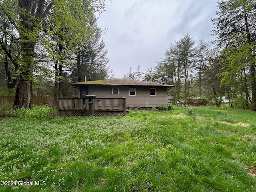
[[[118,95],[112,95],[112,87],[119,88]],[[136,96],[129,96],[129,88],[136,88]],[[156,88],[156,96],[149,96],[149,88]],[[166,87],[150,86],[88,86],[90,95],[96,95],[96,98],[126,98],[126,107],[156,107],[158,105],[167,105]],[[79,91],[80,92],[80,91]],[[80,95],[80,93],[79,93]]]

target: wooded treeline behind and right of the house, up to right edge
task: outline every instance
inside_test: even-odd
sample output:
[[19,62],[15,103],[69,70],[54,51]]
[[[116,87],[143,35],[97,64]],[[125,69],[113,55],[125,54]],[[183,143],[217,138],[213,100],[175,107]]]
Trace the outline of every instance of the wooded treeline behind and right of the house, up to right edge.
[[[190,34],[171,43],[164,57],[141,76],[175,85],[175,98],[212,98],[218,106],[226,96],[239,108],[256,110],[256,1],[220,0],[213,42],[196,42]],[[140,68],[124,78],[137,78]]]

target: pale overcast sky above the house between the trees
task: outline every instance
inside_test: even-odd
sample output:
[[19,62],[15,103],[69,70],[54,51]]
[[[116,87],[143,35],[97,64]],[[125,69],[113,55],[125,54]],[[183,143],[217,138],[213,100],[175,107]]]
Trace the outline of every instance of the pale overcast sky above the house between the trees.
[[217,0],[108,0],[98,19],[115,78],[140,66],[156,66],[169,45],[189,33],[197,42],[211,41]]

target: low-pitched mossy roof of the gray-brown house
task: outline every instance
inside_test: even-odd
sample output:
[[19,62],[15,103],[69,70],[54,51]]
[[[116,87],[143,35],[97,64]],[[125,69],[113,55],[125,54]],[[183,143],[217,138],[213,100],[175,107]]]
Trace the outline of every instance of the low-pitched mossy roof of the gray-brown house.
[[99,86],[164,86],[164,87],[174,87],[174,85],[162,84],[162,83],[152,83],[146,81],[139,81],[134,79],[104,79],[104,80],[96,80],[96,81],[85,81],[85,82],[77,82],[71,83],[71,85],[79,87],[84,85],[99,85]]

